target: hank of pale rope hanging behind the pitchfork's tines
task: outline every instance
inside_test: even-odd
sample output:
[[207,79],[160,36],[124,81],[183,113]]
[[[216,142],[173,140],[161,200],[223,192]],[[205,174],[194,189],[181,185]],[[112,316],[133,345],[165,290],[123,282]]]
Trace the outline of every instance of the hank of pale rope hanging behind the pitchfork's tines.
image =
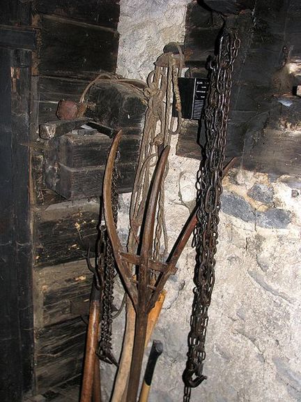
[[[147,79],[144,95],[148,99],[148,109],[141,139],[137,174],[134,180],[130,206],[130,233],[128,238],[128,251],[135,253],[139,244],[139,229],[144,217],[144,207],[148,197],[151,174],[157,164],[163,147],[171,142],[171,135],[177,134],[181,127],[180,93],[178,90],[178,77],[183,67],[183,54],[179,50],[179,61],[172,53],[162,54],[155,63]],[[164,59],[164,63],[160,59]],[[177,122],[172,117],[173,100],[178,111]],[[176,129],[173,131],[173,126]],[[169,165],[164,173],[167,176]],[[162,181],[164,183],[164,179]],[[163,240],[163,246],[162,246]],[[167,228],[164,216],[164,185],[162,185],[157,209],[157,225],[155,228],[155,241],[153,258],[162,260],[168,248]]]

